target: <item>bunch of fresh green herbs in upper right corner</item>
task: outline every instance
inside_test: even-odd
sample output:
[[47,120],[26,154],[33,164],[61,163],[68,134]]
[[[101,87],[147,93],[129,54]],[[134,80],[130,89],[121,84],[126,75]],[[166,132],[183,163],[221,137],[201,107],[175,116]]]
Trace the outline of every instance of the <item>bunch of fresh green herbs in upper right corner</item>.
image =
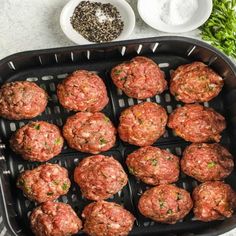
[[236,58],[236,0],[213,0],[213,10],[200,27],[202,39]]

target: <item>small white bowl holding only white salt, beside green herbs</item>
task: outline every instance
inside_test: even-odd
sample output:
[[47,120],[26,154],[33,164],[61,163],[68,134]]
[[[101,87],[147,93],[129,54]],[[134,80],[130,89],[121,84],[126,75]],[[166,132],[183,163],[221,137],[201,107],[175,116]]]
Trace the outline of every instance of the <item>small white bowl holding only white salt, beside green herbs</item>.
[[138,12],[145,23],[167,33],[184,33],[195,30],[206,22],[212,12],[212,0],[198,0],[198,8],[189,21],[181,25],[171,25],[166,24],[157,16],[157,1],[159,0],[139,0]]

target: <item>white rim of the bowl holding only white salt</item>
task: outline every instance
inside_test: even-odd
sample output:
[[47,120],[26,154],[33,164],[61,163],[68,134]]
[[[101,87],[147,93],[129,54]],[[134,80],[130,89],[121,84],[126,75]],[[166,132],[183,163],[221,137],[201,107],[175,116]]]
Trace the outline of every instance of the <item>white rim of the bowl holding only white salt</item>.
[[[139,13],[141,19],[150,27],[152,27],[158,31],[165,32],[165,33],[185,33],[185,32],[195,30],[198,27],[200,27],[201,25],[203,25],[208,20],[208,18],[211,15],[212,9],[213,9],[213,1],[212,0],[204,0],[205,6],[207,6],[207,7],[203,8],[203,9],[205,9],[205,15],[201,20],[199,20],[197,22],[192,21],[192,24],[188,25],[188,26],[184,26],[184,24],[174,26],[174,25],[165,24],[164,22],[163,22],[162,26],[157,26],[157,25],[152,24],[149,20],[150,18],[147,19],[146,15],[143,14],[142,7],[141,7],[141,4],[143,2],[145,2],[145,4],[150,3],[147,0],[146,1],[145,0],[138,0],[137,9],[138,9],[138,13]],[[199,2],[199,0],[198,0],[198,2]]]

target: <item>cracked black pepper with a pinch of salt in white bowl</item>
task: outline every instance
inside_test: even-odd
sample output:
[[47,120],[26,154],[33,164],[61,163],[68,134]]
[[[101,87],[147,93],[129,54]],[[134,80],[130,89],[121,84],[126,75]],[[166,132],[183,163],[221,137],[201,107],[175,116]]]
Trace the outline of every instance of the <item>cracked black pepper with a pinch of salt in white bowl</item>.
[[124,22],[112,4],[82,1],[71,17],[73,28],[90,42],[108,42],[122,32]]

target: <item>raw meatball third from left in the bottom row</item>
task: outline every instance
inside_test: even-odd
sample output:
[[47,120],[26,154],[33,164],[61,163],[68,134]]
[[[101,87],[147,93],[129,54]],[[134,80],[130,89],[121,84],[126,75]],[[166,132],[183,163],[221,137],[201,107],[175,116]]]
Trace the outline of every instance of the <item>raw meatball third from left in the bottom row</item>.
[[144,216],[167,224],[183,219],[192,207],[190,194],[173,185],[159,185],[147,190],[138,203]]

